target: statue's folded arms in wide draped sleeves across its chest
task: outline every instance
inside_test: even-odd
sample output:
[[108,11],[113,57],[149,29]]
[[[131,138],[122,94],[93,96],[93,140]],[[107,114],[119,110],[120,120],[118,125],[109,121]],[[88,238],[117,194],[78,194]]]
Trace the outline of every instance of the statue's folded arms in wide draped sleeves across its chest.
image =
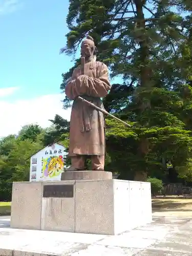
[[105,64],[99,63],[97,68],[98,78],[89,77],[86,75],[80,75],[76,79],[73,79],[66,86],[66,95],[71,99],[75,99],[80,95],[88,95],[93,97],[104,97],[111,89],[109,82],[109,71]]

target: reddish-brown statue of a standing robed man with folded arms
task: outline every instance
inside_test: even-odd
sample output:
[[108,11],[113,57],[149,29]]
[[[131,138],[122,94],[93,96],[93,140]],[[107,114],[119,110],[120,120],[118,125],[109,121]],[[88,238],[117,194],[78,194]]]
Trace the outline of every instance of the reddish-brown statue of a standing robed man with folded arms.
[[[91,101],[101,109],[101,98],[111,89],[108,67],[96,61],[96,47],[91,36],[81,44],[84,67],[78,66],[66,86],[66,95],[74,100],[70,121],[70,146],[73,170],[84,170],[86,158],[91,158],[92,170],[104,170],[105,121],[103,113],[78,99]],[[83,72],[82,72],[83,69]]]

